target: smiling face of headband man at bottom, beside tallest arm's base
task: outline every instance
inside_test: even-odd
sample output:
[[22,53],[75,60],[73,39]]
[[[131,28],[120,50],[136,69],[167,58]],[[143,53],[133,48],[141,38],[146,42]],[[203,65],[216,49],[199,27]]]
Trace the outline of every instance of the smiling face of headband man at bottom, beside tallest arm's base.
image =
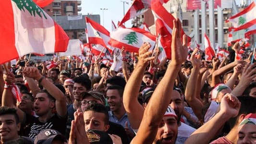
[[158,126],[156,144],[175,144],[178,134],[177,120],[173,116],[163,117]]

